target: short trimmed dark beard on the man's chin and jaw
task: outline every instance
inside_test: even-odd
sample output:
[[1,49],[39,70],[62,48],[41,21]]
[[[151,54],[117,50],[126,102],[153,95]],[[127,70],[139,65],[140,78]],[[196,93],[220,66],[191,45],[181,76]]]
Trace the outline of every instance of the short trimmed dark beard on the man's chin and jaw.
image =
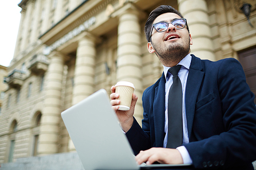
[[[168,65],[168,63],[177,62],[179,63],[189,52],[190,52],[190,39],[185,41],[185,43],[174,42],[169,44],[167,47],[163,47],[158,43],[151,41],[153,48],[156,51],[160,62],[162,64]],[[164,64],[164,65],[165,65]]]

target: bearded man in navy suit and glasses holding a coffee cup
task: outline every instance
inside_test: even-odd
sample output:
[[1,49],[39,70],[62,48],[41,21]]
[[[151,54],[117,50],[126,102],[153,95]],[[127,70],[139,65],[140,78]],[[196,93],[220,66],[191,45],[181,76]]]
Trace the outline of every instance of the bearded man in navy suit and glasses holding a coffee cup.
[[[131,109],[118,110],[115,87],[111,104],[137,155],[138,164],[146,162],[192,163],[196,168],[216,167],[253,169],[256,160],[256,108],[254,95],[246,84],[243,68],[235,59],[217,62],[190,55],[193,44],[186,20],[170,6],[153,10],[145,24],[147,49],[163,64],[162,77],[142,96],[142,128],[133,117],[137,96]],[[173,103],[169,89],[176,82],[170,68],[181,65],[178,77],[182,85],[182,142],[168,147],[168,119]],[[170,98],[170,99],[169,99]],[[175,103],[176,101],[174,101]],[[175,104],[176,105],[176,104]],[[169,109],[168,109],[169,107]],[[176,114],[176,113],[175,113]],[[170,117],[170,116],[169,116]],[[176,130],[176,129],[175,129]]]

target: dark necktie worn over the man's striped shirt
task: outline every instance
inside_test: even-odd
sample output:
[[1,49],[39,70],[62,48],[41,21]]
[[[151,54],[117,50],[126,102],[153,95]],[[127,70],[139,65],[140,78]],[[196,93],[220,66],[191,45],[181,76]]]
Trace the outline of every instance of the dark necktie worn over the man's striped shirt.
[[182,86],[178,77],[181,65],[169,68],[173,84],[168,96],[168,139],[166,148],[177,148],[182,144]]

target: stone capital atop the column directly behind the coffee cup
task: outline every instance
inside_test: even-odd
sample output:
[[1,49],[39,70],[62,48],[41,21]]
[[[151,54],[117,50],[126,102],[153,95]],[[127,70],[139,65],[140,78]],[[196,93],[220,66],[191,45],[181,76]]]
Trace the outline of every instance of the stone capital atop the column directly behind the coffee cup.
[[143,19],[146,17],[146,13],[139,10],[133,3],[129,2],[127,4],[125,4],[124,6],[119,6],[119,8],[117,8],[115,10],[115,12],[113,12],[110,16],[112,18],[115,17],[120,17],[123,14],[126,13],[133,13],[135,15],[137,15],[140,19]]

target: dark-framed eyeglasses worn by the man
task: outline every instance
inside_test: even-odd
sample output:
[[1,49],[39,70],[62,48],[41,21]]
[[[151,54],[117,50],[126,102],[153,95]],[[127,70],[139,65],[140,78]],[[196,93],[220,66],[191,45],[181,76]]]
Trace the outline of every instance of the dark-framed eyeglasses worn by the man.
[[165,22],[165,21],[161,21],[161,22],[157,22],[154,23],[151,29],[151,33],[150,33],[150,38],[152,36],[152,32],[153,32],[153,28],[156,29],[157,32],[161,33],[161,32],[165,32],[168,27],[169,27],[169,23],[172,23],[172,25],[177,29],[183,29],[186,26],[186,19],[185,18],[178,18],[178,19],[174,19],[171,22]]

